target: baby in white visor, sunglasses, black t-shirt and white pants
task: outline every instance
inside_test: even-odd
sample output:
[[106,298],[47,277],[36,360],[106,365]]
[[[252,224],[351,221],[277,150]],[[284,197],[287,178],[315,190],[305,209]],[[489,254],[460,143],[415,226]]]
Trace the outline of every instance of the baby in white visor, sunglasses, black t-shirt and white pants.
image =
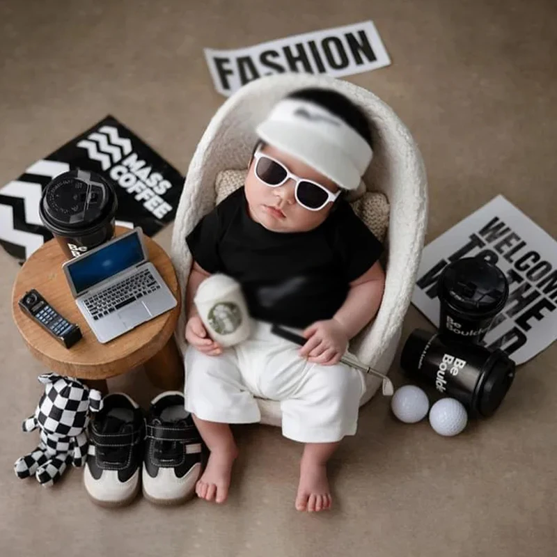
[[[366,116],[335,91],[312,88],[276,104],[244,187],[197,224],[187,244],[186,409],[210,449],[196,493],[222,503],[237,446],[228,424],[260,421],[254,397],[277,400],[285,437],[304,443],[295,506],[331,507],[327,461],[354,435],[363,373],[343,363],[349,340],[381,303],[382,244],[343,199],[372,158]],[[255,327],[223,349],[193,303],[202,281],[223,273],[242,285]],[[271,324],[303,330],[299,347]]]

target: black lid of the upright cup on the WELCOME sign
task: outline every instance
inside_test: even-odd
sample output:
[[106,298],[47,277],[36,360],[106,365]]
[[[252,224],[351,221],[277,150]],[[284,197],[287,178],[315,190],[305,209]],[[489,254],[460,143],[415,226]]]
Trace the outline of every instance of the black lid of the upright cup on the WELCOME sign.
[[508,281],[501,269],[480,258],[452,262],[439,276],[439,299],[457,311],[473,315],[499,313],[508,292]]

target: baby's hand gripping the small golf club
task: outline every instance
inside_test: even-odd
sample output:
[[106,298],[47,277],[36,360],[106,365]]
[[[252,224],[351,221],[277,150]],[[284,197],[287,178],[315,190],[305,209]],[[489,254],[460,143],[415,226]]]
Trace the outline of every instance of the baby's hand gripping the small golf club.
[[304,338],[308,342],[301,347],[300,356],[322,366],[334,366],[348,347],[348,336],[334,319],[316,321],[304,331]]

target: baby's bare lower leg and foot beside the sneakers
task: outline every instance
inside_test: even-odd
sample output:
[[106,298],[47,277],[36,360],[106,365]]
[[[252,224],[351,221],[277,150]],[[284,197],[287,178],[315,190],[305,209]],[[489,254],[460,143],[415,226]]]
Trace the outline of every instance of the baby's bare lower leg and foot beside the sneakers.
[[232,465],[238,453],[230,425],[208,422],[195,415],[194,422],[211,451],[203,476],[196,485],[196,494],[206,501],[224,503],[230,487]]

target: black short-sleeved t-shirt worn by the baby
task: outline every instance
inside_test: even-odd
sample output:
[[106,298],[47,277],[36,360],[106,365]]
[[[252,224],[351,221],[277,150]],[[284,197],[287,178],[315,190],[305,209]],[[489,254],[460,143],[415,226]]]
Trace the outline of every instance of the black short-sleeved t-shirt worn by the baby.
[[251,219],[243,187],[201,219],[187,244],[205,271],[240,282],[252,317],[298,328],[331,319],[349,283],[383,251],[346,201],[313,230],[277,233]]

